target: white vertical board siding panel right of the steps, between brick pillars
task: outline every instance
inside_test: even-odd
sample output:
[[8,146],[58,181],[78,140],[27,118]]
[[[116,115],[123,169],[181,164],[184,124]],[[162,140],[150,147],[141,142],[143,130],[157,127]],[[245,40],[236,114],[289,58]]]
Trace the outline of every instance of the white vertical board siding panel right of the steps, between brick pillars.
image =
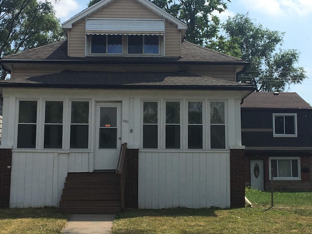
[[138,207],[230,206],[230,154],[139,152]]

